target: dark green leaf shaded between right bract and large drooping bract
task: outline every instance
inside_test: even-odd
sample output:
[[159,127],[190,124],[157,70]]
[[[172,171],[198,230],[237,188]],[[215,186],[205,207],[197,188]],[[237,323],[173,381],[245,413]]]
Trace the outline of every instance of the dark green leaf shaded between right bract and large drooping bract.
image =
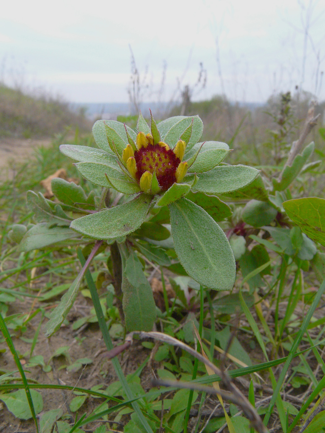
[[230,207],[214,195],[190,191],[186,198],[202,207],[216,222],[231,216]]

